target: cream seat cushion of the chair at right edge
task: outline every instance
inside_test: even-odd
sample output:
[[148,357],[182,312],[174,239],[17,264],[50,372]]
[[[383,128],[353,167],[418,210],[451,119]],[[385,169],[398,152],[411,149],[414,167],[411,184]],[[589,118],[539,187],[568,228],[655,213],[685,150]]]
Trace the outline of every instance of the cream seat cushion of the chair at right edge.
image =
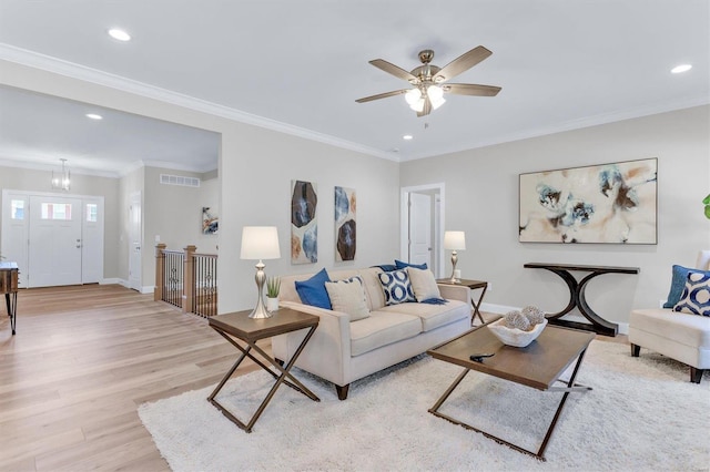
[[710,349],[710,318],[704,316],[661,308],[637,309],[629,315],[629,326],[684,346]]

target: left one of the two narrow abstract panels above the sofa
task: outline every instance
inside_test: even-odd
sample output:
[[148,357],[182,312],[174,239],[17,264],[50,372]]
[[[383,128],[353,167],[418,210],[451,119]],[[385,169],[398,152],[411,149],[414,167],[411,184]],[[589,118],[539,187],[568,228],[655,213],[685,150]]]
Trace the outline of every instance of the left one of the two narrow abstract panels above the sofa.
[[317,206],[315,184],[291,181],[291,264],[318,261]]

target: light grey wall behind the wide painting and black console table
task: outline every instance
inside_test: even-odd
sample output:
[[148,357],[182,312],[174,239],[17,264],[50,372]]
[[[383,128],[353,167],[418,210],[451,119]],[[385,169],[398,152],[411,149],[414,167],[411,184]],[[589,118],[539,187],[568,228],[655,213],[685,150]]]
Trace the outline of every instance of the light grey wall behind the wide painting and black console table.
[[[562,309],[566,285],[525,269],[528,261],[639,267],[638,276],[599,276],[587,289],[592,309],[627,322],[631,308],[666,298],[672,264],[692,265],[698,250],[710,248],[700,203],[710,192],[709,131],[710,106],[692,107],[405,163],[400,185],[445,182],[445,225],[466,232],[457,267],[466,278],[491,283],[486,302]],[[518,174],[647,157],[658,157],[658,245],[518,242]]]

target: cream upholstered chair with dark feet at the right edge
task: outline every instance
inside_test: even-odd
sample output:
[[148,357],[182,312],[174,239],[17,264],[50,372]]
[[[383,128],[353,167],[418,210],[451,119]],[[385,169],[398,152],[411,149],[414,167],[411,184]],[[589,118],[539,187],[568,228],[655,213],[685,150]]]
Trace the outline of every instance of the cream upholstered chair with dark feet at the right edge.
[[[696,268],[710,270],[710,250],[700,253]],[[710,369],[710,317],[671,308],[636,309],[629,317],[629,342],[633,357],[646,348],[690,366],[694,383]]]

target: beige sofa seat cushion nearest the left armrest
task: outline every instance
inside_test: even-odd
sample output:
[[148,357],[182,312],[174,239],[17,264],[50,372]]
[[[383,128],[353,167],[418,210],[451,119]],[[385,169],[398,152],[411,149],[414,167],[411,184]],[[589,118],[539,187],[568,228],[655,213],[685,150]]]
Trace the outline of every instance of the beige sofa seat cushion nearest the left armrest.
[[422,321],[412,315],[373,311],[351,322],[351,356],[359,356],[422,332]]

